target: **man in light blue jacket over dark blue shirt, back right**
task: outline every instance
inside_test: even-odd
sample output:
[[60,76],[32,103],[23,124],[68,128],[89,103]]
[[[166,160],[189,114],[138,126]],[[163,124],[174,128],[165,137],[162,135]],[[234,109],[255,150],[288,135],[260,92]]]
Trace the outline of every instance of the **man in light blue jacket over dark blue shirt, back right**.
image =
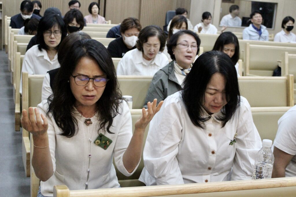
[[254,11],[250,14],[251,24],[242,31],[243,40],[262,40],[268,41],[269,34],[264,25],[262,25],[262,14],[260,11]]

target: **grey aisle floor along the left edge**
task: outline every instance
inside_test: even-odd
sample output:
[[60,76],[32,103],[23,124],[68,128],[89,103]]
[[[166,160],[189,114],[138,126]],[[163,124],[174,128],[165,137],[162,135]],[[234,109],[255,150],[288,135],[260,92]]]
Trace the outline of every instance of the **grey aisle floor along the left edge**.
[[22,163],[22,133],[16,132],[8,58],[0,51],[0,197],[30,196],[30,177]]

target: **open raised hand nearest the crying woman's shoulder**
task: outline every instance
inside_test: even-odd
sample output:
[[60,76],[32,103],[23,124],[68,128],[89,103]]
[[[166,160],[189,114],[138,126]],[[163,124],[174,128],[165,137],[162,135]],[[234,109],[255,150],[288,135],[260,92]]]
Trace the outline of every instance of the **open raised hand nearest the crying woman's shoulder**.
[[157,99],[154,99],[153,102],[147,103],[147,111],[145,108],[142,108],[142,117],[137,120],[135,123],[135,130],[141,129],[143,132],[145,131],[145,128],[149,124],[149,122],[152,120],[154,115],[160,110],[161,105],[163,105],[163,101],[160,101],[157,105]]

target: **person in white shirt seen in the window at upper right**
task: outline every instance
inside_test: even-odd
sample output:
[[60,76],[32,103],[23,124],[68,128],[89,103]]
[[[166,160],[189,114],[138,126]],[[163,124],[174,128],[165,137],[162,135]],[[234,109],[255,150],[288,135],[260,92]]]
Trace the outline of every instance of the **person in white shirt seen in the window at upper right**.
[[242,19],[238,17],[239,6],[232,5],[229,7],[229,14],[223,16],[219,26],[224,27],[238,27],[242,26]]

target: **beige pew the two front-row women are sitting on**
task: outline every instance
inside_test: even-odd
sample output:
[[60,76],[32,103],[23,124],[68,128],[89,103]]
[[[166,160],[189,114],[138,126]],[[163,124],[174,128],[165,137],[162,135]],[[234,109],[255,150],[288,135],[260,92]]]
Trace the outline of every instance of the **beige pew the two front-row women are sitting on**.
[[[289,110],[290,107],[271,107],[271,108],[251,108],[253,121],[255,123],[256,128],[258,129],[258,132],[260,134],[261,139],[271,139],[274,140],[277,132],[277,121],[279,118]],[[142,111],[140,109],[138,110],[131,110],[131,117],[132,117],[132,125],[133,125],[133,131],[134,131],[134,125],[136,121],[141,117]],[[149,125],[146,128],[145,135],[144,135],[144,144],[147,138]],[[30,138],[32,139],[32,138]],[[143,144],[143,147],[144,147]],[[32,148],[32,140],[31,140],[31,147]],[[31,154],[32,155],[32,154]],[[31,156],[32,157],[32,156]],[[113,163],[115,166],[115,164]],[[121,174],[116,166],[116,175],[118,178],[118,182],[120,183],[120,187],[135,187],[135,186],[144,186],[144,184],[139,181],[139,176],[141,174],[142,169],[144,168],[144,162],[143,162],[143,154],[141,156],[141,161],[139,164],[139,167],[134,172],[133,175],[126,177],[123,174]],[[36,196],[36,193],[38,191],[39,187],[39,180],[36,177],[36,175],[33,172],[32,166],[31,166],[31,196]],[[32,191],[33,188],[33,191]]]

